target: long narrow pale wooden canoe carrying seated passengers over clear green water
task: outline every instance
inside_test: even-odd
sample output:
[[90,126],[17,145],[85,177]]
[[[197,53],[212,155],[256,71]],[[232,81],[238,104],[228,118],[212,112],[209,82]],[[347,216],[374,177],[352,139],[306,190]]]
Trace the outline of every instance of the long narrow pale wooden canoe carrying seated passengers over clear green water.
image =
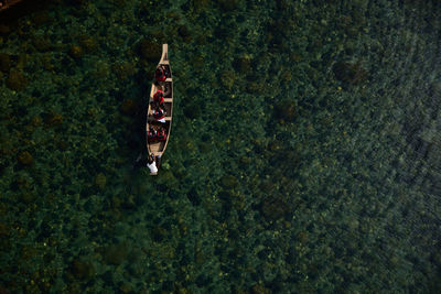
[[[149,106],[147,110],[147,123],[146,123],[146,142],[147,150],[149,154],[154,154],[157,156],[157,166],[160,167],[160,160],[165,152],[166,144],[170,139],[170,130],[172,127],[172,111],[173,111],[173,76],[172,68],[170,67],[169,61],[169,45],[162,44],[162,55],[161,61],[158,63],[157,68],[161,67],[165,68],[165,81],[155,83],[153,79],[150,97],[149,97]],[[158,91],[162,90],[164,92],[164,101],[163,108],[165,110],[164,120],[165,122],[157,121],[153,117],[154,106],[157,102],[153,100],[153,95]],[[161,128],[165,131],[165,140],[149,140],[147,133],[150,128],[160,131]],[[151,175],[157,175],[158,173],[151,173]]]

